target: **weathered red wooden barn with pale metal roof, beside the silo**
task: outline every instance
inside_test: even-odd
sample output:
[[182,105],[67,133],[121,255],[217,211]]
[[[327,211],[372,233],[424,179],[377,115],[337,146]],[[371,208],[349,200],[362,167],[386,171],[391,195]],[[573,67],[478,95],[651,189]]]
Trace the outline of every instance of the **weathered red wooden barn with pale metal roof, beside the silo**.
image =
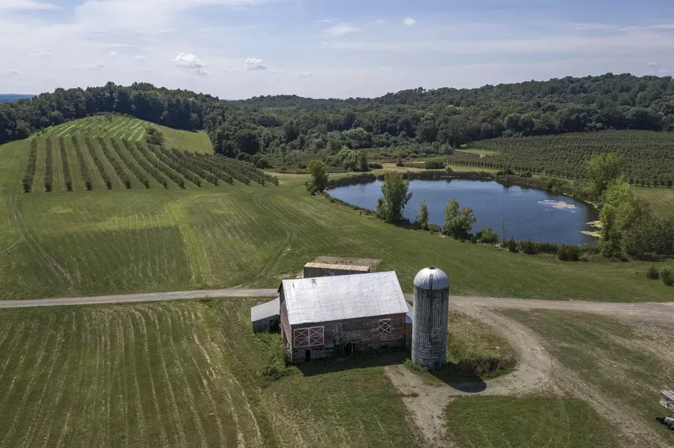
[[279,299],[292,363],[409,344],[394,271],[283,280]]

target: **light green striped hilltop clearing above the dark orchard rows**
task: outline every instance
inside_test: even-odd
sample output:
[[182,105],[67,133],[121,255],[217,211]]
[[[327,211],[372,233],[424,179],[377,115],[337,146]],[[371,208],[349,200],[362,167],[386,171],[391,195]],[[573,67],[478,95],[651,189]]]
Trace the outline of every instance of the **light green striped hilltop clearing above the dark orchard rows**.
[[179,131],[124,115],[94,115],[46,128],[39,135],[52,138],[67,137],[68,139],[72,135],[77,135],[140,141],[145,135],[147,126],[154,126],[164,134],[168,148],[175,147],[180,150],[190,150],[193,153],[213,154],[213,145],[204,131]]

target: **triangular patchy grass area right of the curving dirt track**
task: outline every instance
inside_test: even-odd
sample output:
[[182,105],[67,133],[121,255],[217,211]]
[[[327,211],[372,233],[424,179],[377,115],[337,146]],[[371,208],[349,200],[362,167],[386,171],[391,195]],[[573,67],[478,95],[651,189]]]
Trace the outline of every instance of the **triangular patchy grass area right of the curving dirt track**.
[[[673,324],[622,322],[611,317],[567,311],[502,313],[532,328],[545,348],[580,379],[618,405],[639,425],[649,425],[674,443],[674,435],[655,420],[666,416],[660,389],[671,388]],[[618,410],[616,412],[619,412]]]

